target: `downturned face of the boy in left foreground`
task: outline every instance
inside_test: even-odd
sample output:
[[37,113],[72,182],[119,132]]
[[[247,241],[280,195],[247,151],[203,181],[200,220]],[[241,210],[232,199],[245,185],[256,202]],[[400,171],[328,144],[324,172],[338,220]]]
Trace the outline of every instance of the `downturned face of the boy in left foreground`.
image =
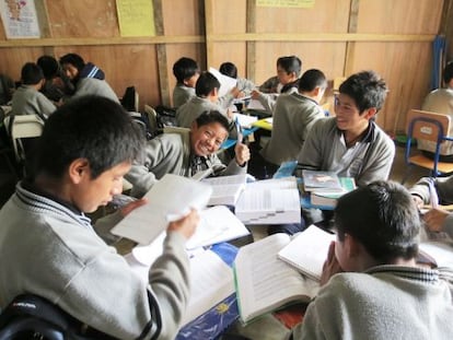
[[106,206],[115,195],[121,194],[123,176],[129,169],[130,163],[124,162],[92,179],[90,166],[80,167],[71,195],[72,203],[83,212],[94,212],[100,206]]

